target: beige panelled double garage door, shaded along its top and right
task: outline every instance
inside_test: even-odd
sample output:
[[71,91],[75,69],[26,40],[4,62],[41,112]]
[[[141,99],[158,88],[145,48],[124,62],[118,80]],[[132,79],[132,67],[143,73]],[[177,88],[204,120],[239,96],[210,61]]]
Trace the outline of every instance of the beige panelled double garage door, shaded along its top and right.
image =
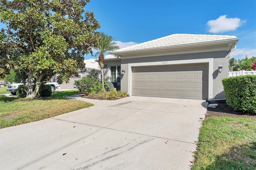
[[133,67],[132,95],[208,98],[208,64]]

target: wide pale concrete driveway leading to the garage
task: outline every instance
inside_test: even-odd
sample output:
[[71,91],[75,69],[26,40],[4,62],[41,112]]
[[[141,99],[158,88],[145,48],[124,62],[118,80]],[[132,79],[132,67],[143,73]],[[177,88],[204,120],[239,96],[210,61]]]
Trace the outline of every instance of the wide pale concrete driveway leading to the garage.
[[0,129],[0,169],[190,169],[207,103],[126,97]]

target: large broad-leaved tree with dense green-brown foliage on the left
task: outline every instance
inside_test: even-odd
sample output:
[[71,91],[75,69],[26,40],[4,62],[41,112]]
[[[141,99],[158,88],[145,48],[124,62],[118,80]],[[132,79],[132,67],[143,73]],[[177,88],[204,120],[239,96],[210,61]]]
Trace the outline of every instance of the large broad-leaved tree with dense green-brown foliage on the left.
[[[84,55],[100,40],[100,25],[93,12],[85,12],[90,0],[1,0],[0,67],[22,71],[28,77],[27,97],[34,97],[32,79],[40,83],[58,74],[67,82],[85,69]],[[7,67],[9,66],[9,67]]]

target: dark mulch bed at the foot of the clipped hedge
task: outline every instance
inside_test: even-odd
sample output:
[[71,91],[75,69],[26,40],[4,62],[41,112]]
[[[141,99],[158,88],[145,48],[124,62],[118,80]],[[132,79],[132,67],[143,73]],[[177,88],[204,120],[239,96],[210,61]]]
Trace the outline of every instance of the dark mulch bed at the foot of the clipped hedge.
[[222,116],[227,116],[227,117],[243,117],[243,118],[255,118],[256,115],[250,115],[249,113],[243,113],[240,111],[234,111],[232,108],[230,108],[226,102],[217,102],[218,106],[216,108],[207,108],[205,118],[210,117],[210,116],[215,116],[215,117],[222,117]]

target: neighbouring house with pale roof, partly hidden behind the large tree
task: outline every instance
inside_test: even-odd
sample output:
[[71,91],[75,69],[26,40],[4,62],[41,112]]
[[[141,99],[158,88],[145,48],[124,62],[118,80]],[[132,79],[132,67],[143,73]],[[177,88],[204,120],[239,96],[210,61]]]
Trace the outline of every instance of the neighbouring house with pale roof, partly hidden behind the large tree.
[[75,80],[80,80],[82,79],[82,77],[86,77],[86,75],[88,75],[88,73],[93,69],[95,69],[95,71],[99,73],[99,79],[100,79],[100,67],[98,62],[96,62],[95,59],[88,59],[88,60],[84,60],[84,63],[86,67],[86,72],[78,71],[79,76],[70,77],[69,83],[62,83],[60,85],[61,89],[74,89]]

